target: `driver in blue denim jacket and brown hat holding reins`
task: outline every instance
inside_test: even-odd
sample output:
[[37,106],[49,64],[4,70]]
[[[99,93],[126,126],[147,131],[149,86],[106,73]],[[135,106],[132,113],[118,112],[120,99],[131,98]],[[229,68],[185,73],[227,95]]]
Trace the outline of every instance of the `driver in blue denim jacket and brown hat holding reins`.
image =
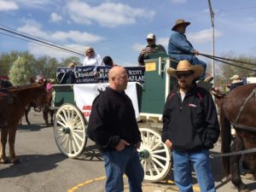
[[172,35],[169,39],[168,54],[171,55],[177,61],[188,60],[193,65],[199,64],[204,67],[204,73],[200,79],[210,82],[213,78],[211,75],[206,77],[207,63],[200,61],[195,55],[199,55],[199,51],[194,49],[193,45],[185,36],[186,27],[190,25],[190,22],[185,20],[177,20],[172,27]]

